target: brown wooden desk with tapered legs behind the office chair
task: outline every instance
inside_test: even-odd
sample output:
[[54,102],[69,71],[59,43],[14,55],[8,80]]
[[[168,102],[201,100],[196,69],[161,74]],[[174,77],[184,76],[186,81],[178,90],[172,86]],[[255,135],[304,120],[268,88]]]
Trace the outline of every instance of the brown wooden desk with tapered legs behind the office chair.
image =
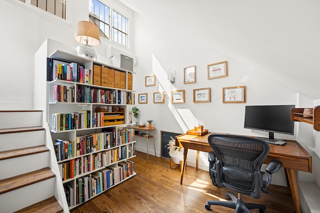
[[[208,136],[210,133],[203,136],[194,135],[178,135],[175,137],[175,145],[184,148],[183,151],[183,161],[181,170],[181,180],[182,185],[183,173],[185,170],[185,161],[188,149],[193,149],[202,152],[210,152],[211,147],[208,143]],[[285,140],[287,143],[285,145],[270,145],[270,152],[268,157],[264,161],[268,164],[271,160],[276,160],[282,162],[282,167],[286,173],[289,181],[289,186],[291,188],[293,203],[296,213],[301,213],[300,202],[297,189],[297,178],[296,171],[312,172],[311,156],[307,153],[301,145],[296,141]]]

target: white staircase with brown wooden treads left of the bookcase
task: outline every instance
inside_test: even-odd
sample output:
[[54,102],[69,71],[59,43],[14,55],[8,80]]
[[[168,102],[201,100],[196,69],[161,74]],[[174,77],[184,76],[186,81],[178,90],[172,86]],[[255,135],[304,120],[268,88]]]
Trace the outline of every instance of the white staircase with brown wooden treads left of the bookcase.
[[42,111],[0,111],[1,213],[63,212],[42,116]]

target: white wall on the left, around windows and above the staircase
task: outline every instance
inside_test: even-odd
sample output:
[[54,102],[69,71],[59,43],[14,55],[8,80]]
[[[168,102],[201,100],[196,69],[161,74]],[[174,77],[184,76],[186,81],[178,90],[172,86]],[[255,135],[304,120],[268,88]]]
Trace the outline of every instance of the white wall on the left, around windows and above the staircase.
[[[88,20],[88,1],[67,2],[69,16],[63,20],[18,0],[1,0],[0,110],[33,108],[33,55],[46,38],[74,48],[79,45],[74,40],[76,23]],[[126,16],[133,16],[133,12],[122,3],[116,1],[112,4],[123,8]],[[94,47],[98,57],[110,54],[107,52],[109,45],[121,48],[105,39],[101,42],[100,46]],[[105,63],[109,62],[105,60]]]

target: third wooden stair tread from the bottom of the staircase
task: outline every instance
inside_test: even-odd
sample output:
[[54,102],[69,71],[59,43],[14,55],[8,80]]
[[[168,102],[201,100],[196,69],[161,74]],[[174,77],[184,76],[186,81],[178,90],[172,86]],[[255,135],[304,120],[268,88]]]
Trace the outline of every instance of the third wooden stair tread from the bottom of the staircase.
[[33,155],[41,152],[48,152],[49,148],[44,145],[36,146],[36,147],[27,147],[22,149],[8,150],[0,152],[0,160],[16,158],[26,155]]

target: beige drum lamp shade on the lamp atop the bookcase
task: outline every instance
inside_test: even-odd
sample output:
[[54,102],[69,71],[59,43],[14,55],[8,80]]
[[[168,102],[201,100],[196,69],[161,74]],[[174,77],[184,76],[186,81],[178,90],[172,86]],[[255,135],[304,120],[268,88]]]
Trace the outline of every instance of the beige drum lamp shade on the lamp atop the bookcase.
[[97,46],[101,44],[99,28],[89,21],[79,21],[76,24],[74,39],[82,44]]

